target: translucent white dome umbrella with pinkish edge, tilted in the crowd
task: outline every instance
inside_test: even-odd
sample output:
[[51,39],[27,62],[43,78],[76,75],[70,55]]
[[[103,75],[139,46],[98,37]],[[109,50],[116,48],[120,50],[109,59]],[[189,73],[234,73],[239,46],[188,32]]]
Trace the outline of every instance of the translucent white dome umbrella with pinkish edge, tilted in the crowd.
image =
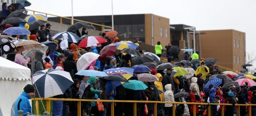
[[87,69],[92,62],[98,59],[98,57],[99,57],[99,54],[97,53],[93,53],[93,52],[84,53],[77,61],[77,64],[76,64],[77,71]]

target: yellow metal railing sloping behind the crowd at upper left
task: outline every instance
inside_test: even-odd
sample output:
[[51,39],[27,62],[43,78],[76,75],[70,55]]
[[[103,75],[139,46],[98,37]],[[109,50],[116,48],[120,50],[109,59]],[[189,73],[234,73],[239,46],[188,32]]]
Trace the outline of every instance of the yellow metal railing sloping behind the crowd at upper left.
[[[35,14],[35,13],[40,13],[40,14],[45,14],[46,16],[51,15],[51,16],[54,16],[54,17],[59,17],[59,18],[60,18],[60,21],[59,21],[60,24],[62,24],[62,19],[69,19],[69,20],[70,20],[70,24],[73,24],[72,18],[69,18],[69,17],[63,17],[63,16],[54,15],[54,14],[49,14],[49,13],[44,13],[44,12],[29,10],[29,9],[26,9],[26,10],[33,12],[33,14]],[[73,19],[73,20],[74,20],[74,21],[80,21],[80,22],[86,22],[86,23],[91,24],[91,25],[101,26],[102,29],[104,29],[104,28],[112,28],[111,26],[106,26],[106,25],[97,24],[97,23],[93,23],[93,22],[88,22],[88,21],[84,21],[84,20],[79,20],[79,19]],[[104,30],[102,30],[102,31],[104,31]]]

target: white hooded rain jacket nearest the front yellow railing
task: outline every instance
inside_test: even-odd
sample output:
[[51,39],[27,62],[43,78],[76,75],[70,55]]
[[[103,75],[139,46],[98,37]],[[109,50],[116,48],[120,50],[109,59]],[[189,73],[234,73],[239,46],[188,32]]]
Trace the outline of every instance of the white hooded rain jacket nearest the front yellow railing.
[[[165,92],[164,92],[164,101],[165,102],[174,102],[174,93],[172,91],[172,84],[166,84],[164,86]],[[164,107],[172,107],[172,103],[166,103],[164,104]]]

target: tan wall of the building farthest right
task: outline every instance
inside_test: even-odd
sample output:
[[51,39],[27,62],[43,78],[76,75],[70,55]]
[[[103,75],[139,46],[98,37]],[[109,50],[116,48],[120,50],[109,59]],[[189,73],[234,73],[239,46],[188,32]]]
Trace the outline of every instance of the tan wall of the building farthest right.
[[[201,31],[201,53],[203,58],[212,57],[218,60],[218,65],[240,70],[245,62],[244,33],[234,30]],[[234,47],[233,40],[239,41],[239,48]],[[237,43],[237,42],[236,42]],[[234,55],[239,56],[240,63]]]

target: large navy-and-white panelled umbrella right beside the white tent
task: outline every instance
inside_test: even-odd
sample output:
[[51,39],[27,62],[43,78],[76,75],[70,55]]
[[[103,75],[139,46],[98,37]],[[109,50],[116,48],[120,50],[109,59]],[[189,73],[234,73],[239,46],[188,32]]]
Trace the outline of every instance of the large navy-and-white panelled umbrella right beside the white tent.
[[74,83],[69,72],[54,69],[35,72],[33,80],[38,90],[36,95],[39,93],[42,98],[63,94]]

